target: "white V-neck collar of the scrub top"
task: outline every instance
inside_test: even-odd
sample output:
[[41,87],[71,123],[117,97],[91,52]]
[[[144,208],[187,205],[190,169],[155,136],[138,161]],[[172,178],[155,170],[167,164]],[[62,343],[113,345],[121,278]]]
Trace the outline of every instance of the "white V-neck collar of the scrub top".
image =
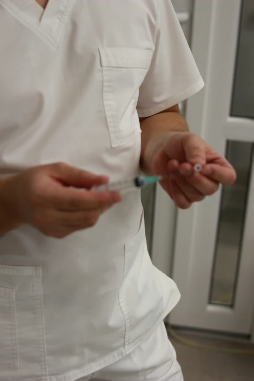
[[0,0],[18,20],[57,47],[75,0],[49,0],[43,9],[35,0]]

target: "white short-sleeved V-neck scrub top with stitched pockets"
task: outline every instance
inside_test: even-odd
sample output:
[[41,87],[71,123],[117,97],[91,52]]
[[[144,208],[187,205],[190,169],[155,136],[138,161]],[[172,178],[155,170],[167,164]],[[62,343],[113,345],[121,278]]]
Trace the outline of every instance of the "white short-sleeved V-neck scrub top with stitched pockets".
[[[65,162],[139,173],[139,116],[203,81],[169,0],[0,0],[0,176]],[[126,356],[179,301],[140,193],[64,239],[0,236],[0,381],[73,381]]]

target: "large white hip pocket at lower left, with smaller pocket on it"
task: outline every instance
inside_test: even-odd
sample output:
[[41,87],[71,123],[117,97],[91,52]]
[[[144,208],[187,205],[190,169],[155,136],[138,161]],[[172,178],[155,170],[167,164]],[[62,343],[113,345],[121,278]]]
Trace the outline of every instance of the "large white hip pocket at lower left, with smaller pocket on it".
[[41,268],[0,265],[0,369],[31,366],[46,377]]

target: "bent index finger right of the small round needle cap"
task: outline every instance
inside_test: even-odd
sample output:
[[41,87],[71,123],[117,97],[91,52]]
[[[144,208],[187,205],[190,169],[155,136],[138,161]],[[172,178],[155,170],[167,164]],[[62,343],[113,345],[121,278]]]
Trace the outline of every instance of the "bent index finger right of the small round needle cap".
[[230,164],[223,166],[207,164],[203,168],[202,174],[223,185],[232,185],[236,181],[236,171]]

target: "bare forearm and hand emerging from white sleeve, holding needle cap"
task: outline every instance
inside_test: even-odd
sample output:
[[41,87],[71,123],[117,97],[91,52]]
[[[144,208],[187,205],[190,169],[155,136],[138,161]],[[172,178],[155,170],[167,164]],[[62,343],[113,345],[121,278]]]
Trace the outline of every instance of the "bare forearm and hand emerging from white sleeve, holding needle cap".
[[[200,136],[188,131],[178,105],[141,119],[141,169],[146,174],[166,175],[163,189],[182,209],[211,196],[219,184],[236,180],[232,165]],[[196,173],[194,165],[202,171]]]

